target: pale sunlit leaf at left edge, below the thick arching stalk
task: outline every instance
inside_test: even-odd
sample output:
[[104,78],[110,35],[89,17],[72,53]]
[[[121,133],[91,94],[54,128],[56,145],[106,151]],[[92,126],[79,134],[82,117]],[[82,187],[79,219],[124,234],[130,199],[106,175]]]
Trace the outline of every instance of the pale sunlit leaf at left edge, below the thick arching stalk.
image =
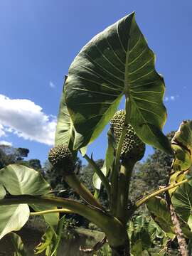
[[11,231],[20,230],[29,217],[27,204],[1,206],[0,210],[0,239]]

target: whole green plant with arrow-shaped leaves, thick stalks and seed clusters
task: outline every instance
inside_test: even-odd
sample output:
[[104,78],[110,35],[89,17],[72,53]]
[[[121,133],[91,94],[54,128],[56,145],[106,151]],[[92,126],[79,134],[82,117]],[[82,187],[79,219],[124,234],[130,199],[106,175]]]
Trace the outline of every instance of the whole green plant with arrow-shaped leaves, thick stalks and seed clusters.
[[[29,215],[43,215],[49,224],[44,240],[48,234],[52,234],[49,236],[52,240],[42,242],[36,247],[36,253],[46,250],[46,255],[56,255],[63,225],[58,213],[78,213],[103,231],[105,238],[100,245],[107,242],[114,255],[138,255],[132,251],[127,225],[139,206],[146,203],[154,220],[171,239],[175,236],[178,240],[183,239],[180,249],[187,253],[185,238],[192,237],[192,215],[190,211],[186,214],[188,205],[184,205],[181,198],[186,188],[187,196],[192,195],[191,177],[188,176],[192,122],[183,122],[169,143],[162,132],[166,122],[164,79],[156,72],[154,62],[154,53],[147,46],[134,13],[106,28],[80,50],[65,77],[55,146],[50,150],[49,160],[84,203],[54,197],[48,183],[32,169],[6,166],[0,171],[0,238],[21,229]],[[124,110],[117,111],[122,97]],[[100,169],[92,155],[86,154],[86,149],[109,122],[105,164]],[[145,144],[174,157],[170,181],[130,203],[132,171],[144,155]],[[78,152],[95,171],[94,195],[75,176]],[[107,209],[98,196],[102,186],[107,191],[110,205]],[[134,186],[137,189],[137,184]],[[165,192],[166,199],[156,197]],[[184,196],[191,203],[192,198]],[[28,206],[35,212],[30,213]],[[19,247],[18,238],[15,241]],[[22,248],[20,246],[23,252]]]

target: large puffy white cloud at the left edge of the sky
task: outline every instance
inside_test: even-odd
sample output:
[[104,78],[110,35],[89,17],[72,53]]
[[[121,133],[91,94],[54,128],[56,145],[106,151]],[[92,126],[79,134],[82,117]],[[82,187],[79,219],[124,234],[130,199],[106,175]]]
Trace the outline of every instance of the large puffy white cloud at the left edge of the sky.
[[10,99],[0,95],[0,137],[7,133],[53,145],[56,117],[48,116],[31,100]]

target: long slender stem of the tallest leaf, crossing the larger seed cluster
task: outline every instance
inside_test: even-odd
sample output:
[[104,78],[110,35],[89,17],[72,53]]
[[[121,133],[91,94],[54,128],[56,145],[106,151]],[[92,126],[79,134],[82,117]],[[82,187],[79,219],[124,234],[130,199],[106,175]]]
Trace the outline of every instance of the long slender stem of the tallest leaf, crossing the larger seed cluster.
[[111,185],[111,210],[112,213],[116,213],[117,211],[117,191],[118,191],[118,176],[119,176],[119,169],[120,169],[120,156],[122,151],[122,144],[124,142],[124,137],[127,132],[127,125],[128,125],[128,102],[129,98],[125,98],[125,117],[124,117],[124,126],[122,128],[122,134],[119,139],[119,143],[117,145],[117,151],[114,159],[114,166],[112,169],[112,185]]

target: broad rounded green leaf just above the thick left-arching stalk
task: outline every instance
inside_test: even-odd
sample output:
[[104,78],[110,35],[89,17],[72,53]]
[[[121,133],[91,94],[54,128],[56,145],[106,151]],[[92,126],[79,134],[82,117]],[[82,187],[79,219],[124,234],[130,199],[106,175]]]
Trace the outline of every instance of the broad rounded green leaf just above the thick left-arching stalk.
[[10,164],[0,170],[0,184],[11,195],[44,195],[50,186],[38,171],[19,164]]

